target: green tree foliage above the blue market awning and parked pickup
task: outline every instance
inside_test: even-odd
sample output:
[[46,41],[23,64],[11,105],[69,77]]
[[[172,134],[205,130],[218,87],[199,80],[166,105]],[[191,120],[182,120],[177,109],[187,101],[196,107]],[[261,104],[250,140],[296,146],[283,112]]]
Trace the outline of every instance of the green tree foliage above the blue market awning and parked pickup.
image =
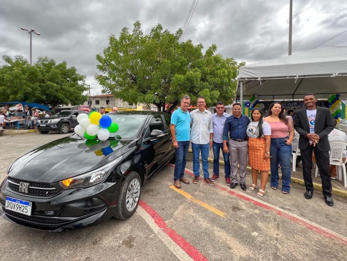
[[77,73],[67,62],[57,64],[48,57],[39,57],[31,66],[22,56],[2,56],[6,65],[0,67],[0,101],[25,101],[49,104],[79,105],[87,100],[83,92],[85,75]]

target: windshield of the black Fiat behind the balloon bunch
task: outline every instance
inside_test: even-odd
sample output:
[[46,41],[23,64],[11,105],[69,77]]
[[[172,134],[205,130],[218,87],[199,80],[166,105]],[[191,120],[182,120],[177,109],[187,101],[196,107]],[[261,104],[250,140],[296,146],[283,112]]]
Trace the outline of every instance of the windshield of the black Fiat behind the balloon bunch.
[[112,122],[118,124],[118,131],[115,134],[119,135],[122,139],[134,137],[147,118],[146,115],[123,115],[117,113],[109,116]]

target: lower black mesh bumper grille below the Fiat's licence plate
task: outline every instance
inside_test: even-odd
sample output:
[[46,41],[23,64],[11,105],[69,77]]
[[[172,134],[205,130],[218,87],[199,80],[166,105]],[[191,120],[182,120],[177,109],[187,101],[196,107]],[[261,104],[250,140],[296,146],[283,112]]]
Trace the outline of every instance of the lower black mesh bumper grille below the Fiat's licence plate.
[[2,211],[5,212],[7,216],[11,219],[16,219],[21,222],[27,223],[29,225],[34,225],[34,226],[57,228],[66,222],[65,220],[57,219],[57,218],[27,216],[27,215],[17,213],[5,208],[2,208]]

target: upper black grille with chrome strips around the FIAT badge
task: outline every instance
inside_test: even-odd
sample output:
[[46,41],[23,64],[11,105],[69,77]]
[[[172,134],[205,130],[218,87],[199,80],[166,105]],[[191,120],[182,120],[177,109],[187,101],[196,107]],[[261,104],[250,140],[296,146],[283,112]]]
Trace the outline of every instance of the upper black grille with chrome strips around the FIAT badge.
[[38,196],[38,197],[51,197],[59,193],[59,190],[57,190],[55,187],[53,187],[49,183],[28,182],[25,180],[20,180],[20,179],[16,179],[12,177],[8,177],[8,180],[9,180],[9,183],[8,183],[9,189],[19,193],[22,193],[19,191],[20,182],[29,183],[28,193],[22,193],[24,195],[32,195],[32,196]]

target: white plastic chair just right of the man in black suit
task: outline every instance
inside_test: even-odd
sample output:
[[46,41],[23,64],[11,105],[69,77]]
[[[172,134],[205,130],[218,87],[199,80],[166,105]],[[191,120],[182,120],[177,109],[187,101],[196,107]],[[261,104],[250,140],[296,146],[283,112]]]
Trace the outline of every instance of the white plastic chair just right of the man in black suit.
[[[347,187],[346,167],[347,158],[342,161],[342,153],[347,146],[346,141],[330,141],[330,165],[336,165],[336,173],[338,180],[341,178],[341,169],[344,175],[344,186]],[[338,168],[341,167],[341,168]],[[318,167],[316,166],[315,177],[318,177]]]

